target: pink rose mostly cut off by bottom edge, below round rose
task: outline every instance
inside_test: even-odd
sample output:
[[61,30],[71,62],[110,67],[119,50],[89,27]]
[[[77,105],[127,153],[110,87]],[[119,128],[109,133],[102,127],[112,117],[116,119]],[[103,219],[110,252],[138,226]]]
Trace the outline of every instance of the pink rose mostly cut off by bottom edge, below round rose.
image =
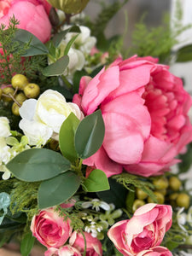
[[81,253],[70,245],[66,245],[61,247],[60,249],[56,248],[49,248],[45,253],[44,256],[81,256]]

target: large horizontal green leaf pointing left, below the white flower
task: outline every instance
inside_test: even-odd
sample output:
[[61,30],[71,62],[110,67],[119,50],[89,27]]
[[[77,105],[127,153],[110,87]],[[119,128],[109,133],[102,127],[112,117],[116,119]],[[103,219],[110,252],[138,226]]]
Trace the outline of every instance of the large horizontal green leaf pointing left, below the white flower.
[[36,182],[66,172],[70,169],[70,162],[53,150],[31,148],[16,155],[7,168],[20,180]]

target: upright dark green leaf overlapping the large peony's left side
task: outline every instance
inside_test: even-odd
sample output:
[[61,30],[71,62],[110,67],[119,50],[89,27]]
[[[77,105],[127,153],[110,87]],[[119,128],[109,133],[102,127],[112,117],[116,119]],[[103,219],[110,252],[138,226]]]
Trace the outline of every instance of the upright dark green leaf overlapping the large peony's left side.
[[105,125],[101,110],[87,115],[79,124],[75,133],[75,148],[79,157],[86,159],[95,154],[102,146]]

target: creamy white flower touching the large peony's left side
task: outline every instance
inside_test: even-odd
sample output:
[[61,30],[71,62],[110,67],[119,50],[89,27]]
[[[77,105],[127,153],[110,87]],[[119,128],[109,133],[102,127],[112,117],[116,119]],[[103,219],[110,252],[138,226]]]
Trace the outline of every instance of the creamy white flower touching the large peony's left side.
[[77,104],[67,103],[64,96],[56,90],[46,90],[38,100],[26,100],[20,107],[20,129],[31,145],[44,145],[49,137],[58,139],[61,125],[70,113],[78,119],[84,114]]

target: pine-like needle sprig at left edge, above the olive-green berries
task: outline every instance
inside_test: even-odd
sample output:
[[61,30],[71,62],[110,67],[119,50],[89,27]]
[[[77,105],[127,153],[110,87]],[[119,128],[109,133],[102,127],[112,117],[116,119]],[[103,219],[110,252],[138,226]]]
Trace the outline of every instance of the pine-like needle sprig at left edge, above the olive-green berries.
[[29,48],[30,42],[20,45],[14,40],[18,25],[15,16],[9,20],[9,26],[0,25],[0,84],[11,84],[15,73],[25,74],[29,80],[35,79],[37,71],[46,66],[44,56],[20,57]]

